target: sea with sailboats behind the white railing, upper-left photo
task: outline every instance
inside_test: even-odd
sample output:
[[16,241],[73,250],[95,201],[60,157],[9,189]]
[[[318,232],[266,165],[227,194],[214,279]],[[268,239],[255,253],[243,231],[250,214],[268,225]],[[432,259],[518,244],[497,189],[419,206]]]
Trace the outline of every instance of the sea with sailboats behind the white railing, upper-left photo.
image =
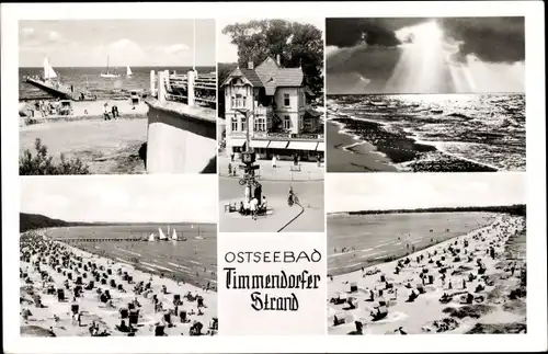
[[[79,68],[59,68],[55,71],[60,82],[67,85],[73,85],[75,89],[85,89],[98,99],[111,99],[132,90],[149,90],[150,70],[169,70],[178,73],[186,73],[192,67],[132,67],[133,75],[126,77],[126,68],[113,68],[121,75],[119,78],[101,78],[104,67],[79,67]],[[216,67],[196,67],[198,73],[209,73],[216,71]],[[42,75],[44,69],[39,68],[19,68],[19,98],[20,101],[27,100],[47,100],[53,99],[46,92],[24,82],[24,77]]]

